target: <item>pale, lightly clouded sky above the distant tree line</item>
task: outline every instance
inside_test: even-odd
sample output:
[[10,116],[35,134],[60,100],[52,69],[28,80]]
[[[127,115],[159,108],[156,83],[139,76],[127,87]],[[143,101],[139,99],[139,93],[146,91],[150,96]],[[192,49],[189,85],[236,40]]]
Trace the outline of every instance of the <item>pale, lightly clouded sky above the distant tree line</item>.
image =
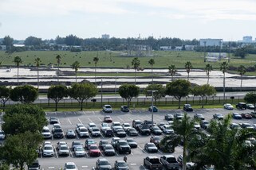
[[0,0],[0,38],[256,38],[256,0]]

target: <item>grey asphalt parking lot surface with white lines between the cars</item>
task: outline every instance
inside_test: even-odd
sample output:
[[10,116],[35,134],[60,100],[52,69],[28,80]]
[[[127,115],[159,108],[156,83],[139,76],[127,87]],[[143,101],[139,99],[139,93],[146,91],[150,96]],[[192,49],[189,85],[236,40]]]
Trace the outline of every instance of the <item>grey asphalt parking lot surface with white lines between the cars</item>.
[[[188,112],[187,114],[191,117],[194,116],[195,113],[203,114],[206,120],[210,121],[213,118],[213,114],[229,114],[232,112],[238,112],[239,114],[250,112],[251,110],[224,110],[224,109],[196,109],[193,112]],[[154,122],[166,122],[164,120],[165,114],[175,114],[175,113],[183,113],[183,110],[159,110],[157,113],[154,113]],[[148,112],[148,110],[131,110],[128,113],[123,113],[120,110],[113,110],[112,114],[106,114],[102,111],[77,111],[77,112],[47,112],[45,113],[46,117],[57,117],[61,124],[62,129],[64,129],[64,133],[67,129],[75,129],[77,123],[84,124],[85,127],[88,126],[90,122],[94,122],[96,126],[100,128],[100,123],[103,121],[105,115],[110,115],[112,117],[113,122],[120,122],[121,124],[124,122],[130,123],[132,126],[132,120],[140,119],[141,121],[144,120],[151,120],[152,114]],[[233,120],[233,122],[249,122],[250,124],[256,123],[255,119],[242,119],[242,120]],[[110,124],[109,124],[110,126]],[[53,125],[49,125],[49,129],[52,129]],[[163,136],[163,134],[161,135]],[[90,135],[91,137],[91,135]],[[155,156],[162,156],[160,150],[158,153],[148,153],[144,150],[145,143],[149,142],[151,136],[141,136],[140,133],[137,137],[132,137],[137,141],[138,147],[136,149],[132,149],[132,153],[126,155],[128,157],[128,165],[130,169],[146,169],[143,166],[144,157],[148,155],[155,155]],[[102,134],[100,137],[91,137],[93,138],[97,144],[99,144],[100,140],[108,140],[110,143],[112,137],[104,137]],[[126,139],[127,137],[124,137]],[[54,147],[54,156],[53,157],[45,157],[42,156],[40,153],[39,155],[39,162],[41,164],[41,168],[43,169],[59,169],[63,168],[65,162],[72,161],[77,164],[78,169],[95,169],[96,160],[99,157],[91,157],[88,153],[86,153],[85,157],[76,157],[72,150],[69,149],[69,156],[58,156],[57,154],[57,142],[58,141],[66,141],[71,148],[72,141],[81,141],[83,145],[85,145],[86,138],[76,137],[75,139],[67,139],[64,137],[63,139],[51,139],[47,141],[51,141]],[[182,146],[178,146],[175,148],[175,153],[172,153],[174,156],[179,156],[182,154],[183,148]],[[88,151],[87,151],[88,152]],[[123,160],[124,154],[119,154],[116,152],[115,156],[105,156],[101,153],[100,157],[104,157],[110,161],[113,165],[115,160]]]

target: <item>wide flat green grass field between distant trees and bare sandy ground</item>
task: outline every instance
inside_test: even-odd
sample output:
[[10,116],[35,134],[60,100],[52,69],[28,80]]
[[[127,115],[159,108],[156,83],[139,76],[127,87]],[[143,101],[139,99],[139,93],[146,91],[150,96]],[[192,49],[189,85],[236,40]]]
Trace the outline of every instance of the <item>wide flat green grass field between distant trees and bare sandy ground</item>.
[[[56,56],[61,55],[61,67],[70,67],[74,61],[79,61],[81,67],[93,68],[93,57],[98,56],[99,62],[97,63],[98,68],[127,68],[132,67],[132,56],[120,56],[119,52],[62,52],[62,51],[26,51],[26,52],[14,52],[9,55],[5,52],[0,52],[0,60],[2,65],[10,66],[14,65],[14,56],[22,57],[21,66],[35,65],[34,59],[36,57],[41,58],[42,65],[57,64]],[[191,61],[193,68],[205,68],[206,63],[203,62],[203,52],[163,52],[155,51],[154,56],[141,56],[140,57],[140,68],[151,68],[148,64],[148,60],[153,58],[155,60],[154,68],[167,68],[171,64],[175,64],[177,68],[184,68],[184,64],[187,61]],[[253,66],[256,64],[256,55],[246,56],[246,59],[234,58],[231,56],[230,65],[239,66]],[[215,69],[219,70],[219,62],[212,62],[211,64]]]

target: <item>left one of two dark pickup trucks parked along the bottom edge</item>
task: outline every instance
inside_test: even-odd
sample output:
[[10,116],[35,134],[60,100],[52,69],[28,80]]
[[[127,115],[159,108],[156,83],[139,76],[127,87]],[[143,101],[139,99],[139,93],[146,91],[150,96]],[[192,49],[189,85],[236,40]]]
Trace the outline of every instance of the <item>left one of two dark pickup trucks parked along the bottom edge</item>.
[[162,170],[163,164],[157,156],[147,156],[144,158],[144,167],[150,170]]

